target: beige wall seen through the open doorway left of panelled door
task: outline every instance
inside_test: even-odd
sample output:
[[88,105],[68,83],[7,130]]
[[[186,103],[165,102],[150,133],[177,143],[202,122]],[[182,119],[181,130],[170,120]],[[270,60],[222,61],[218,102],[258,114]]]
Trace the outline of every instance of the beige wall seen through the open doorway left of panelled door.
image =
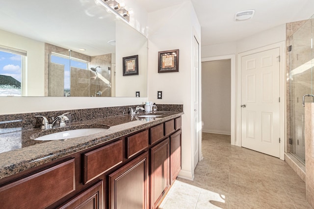
[[231,132],[231,60],[202,62],[203,132]]

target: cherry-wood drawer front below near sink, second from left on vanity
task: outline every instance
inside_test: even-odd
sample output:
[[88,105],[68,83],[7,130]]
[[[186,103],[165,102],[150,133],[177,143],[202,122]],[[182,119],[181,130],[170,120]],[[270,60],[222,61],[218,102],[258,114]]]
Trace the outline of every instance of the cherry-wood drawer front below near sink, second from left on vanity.
[[122,140],[106,145],[99,149],[84,154],[84,180],[88,183],[104,174],[114,166],[122,163],[123,143]]

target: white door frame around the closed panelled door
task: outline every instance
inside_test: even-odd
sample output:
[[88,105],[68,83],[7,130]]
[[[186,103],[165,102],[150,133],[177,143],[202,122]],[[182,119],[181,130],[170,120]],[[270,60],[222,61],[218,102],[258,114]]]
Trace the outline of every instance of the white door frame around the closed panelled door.
[[284,154],[285,154],[285,144],[286,144],[286,130],[287,130],[287,124],[286,121],[286,49],[285,49],[286,43],[284,41],[267,45],[258,49],[250,50],[247,52],[241,52],[237,54],[237,77],[236,77],[236,89],[238,89],[238,93],[236,95],[236,138],[239,140],[236,140],[237,146],[242,145],[242,138],[241,138],[241,59],[243,56],[250,55],[253,53],[263,52],[275,48],[279,48],[280,50],[280,104],[279,104],[279,126],[280,126],[280,159],[284,160]]

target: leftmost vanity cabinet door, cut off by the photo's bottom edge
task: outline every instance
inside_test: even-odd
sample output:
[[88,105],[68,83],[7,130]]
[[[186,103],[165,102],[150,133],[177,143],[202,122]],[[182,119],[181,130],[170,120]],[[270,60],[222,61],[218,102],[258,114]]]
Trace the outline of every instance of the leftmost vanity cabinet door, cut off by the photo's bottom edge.
[[103,181],[78,194],[58,209],[103,209]]

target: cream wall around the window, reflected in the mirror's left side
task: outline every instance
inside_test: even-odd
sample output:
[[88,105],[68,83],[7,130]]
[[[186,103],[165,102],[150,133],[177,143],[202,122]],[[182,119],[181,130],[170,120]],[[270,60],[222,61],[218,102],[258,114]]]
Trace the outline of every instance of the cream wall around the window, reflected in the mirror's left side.
[[0,45],[27,52],[27,96],[44,96],[45,43],[0,30]]

